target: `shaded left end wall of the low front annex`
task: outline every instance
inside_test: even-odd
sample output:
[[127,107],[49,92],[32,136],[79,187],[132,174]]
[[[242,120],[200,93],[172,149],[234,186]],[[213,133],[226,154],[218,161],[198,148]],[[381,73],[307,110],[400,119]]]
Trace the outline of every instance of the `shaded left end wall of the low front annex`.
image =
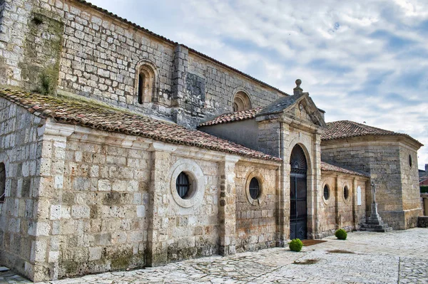
[[33,278],[36,251],[46,227],[39,208],[41,135],[44,121],[0,98],[0,162],[6,167],[6,198],[0,204],[0,263]]

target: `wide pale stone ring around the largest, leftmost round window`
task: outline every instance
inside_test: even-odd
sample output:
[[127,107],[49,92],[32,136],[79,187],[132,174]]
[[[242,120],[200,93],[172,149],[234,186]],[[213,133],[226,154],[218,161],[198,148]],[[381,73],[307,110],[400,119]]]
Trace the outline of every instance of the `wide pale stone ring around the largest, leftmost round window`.
[[[190,189],[185,199],[177,192],[177,177],[184,172],[189,179]],[[202,204],[205,194],[205,178],[202,169],[190,159],[179,159],[170,169],[170,192],[176,204],[184,208],[199,206]]]

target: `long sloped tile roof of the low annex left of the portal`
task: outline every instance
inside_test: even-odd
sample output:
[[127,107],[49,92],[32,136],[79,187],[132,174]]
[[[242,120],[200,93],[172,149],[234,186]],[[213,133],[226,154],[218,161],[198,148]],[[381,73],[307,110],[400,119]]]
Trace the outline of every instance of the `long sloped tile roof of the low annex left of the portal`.
[[36,116],[51,117],[60,123],[81,125],[108,132],[121,132],[126,135],[238,154],[255,159],[281,160],[205,132],[188,130],[172,122],[97,105],[96,102],[53,98],[17,90],[0,90],[0,97],[26,108]]

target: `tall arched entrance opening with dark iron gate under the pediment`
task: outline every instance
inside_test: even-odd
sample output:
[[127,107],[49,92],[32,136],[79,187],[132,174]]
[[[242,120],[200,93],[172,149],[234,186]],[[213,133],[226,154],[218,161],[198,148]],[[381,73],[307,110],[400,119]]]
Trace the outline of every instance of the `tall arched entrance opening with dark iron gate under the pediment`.
[[302,147],[295,145],[290,157],[290,239],[307,235],[307,162]]

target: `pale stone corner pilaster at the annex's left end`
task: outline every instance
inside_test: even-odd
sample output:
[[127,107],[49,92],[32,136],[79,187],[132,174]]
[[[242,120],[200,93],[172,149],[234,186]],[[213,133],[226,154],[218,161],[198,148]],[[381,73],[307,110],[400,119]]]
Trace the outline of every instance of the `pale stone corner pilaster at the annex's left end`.
[[[46,123],[41,136],[41,159],[39,190],[35,191],[37,210],[36,223],[29,233],[35,236],[31,241],[30,263],[34,265],[35,282],[58,279],[59,246],[54,240],[60,232],[61,203],[63,194],[64,165],[67,137],[73,134],[73,127]],[[46,275],[49,271],[49,275]]]

